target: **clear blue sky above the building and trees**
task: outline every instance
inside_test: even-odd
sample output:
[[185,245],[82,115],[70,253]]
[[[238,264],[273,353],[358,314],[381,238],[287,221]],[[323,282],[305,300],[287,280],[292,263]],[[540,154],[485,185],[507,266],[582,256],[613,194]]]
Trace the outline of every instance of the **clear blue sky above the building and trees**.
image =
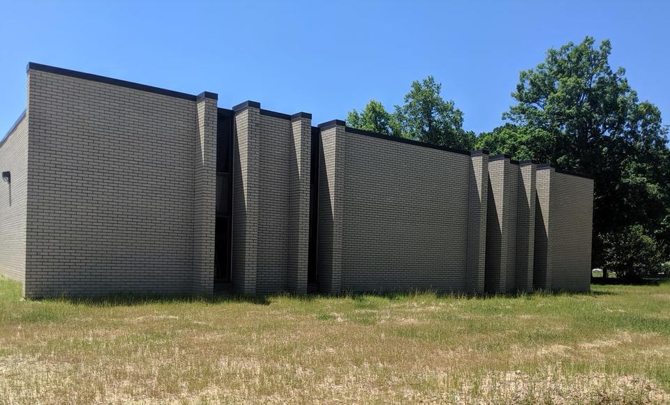
[[1,0],[0,137],[25,108],[27,62],[244,100],[313,123],[427,75],[482,132],[502,123],[519,71],[549,47],[609,38],[641,100],[670,122],[666,1]]

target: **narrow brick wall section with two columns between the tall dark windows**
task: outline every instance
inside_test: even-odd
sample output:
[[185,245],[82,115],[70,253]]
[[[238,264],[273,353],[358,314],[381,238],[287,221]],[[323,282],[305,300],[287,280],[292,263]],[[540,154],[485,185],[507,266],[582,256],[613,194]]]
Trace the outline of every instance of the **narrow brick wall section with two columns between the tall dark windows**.
[[[234,249],[255,240],[241,247],[252,257],[242,257],[241,252],[233,256],[233,273],[241,272],[238,289],[305,292],[311,120],[292,121],[246,107],[237,114],[236,125]],[[250,204],[255,204],[254,220],[249,217]],[[240,217],[246,220],[238,222]]]

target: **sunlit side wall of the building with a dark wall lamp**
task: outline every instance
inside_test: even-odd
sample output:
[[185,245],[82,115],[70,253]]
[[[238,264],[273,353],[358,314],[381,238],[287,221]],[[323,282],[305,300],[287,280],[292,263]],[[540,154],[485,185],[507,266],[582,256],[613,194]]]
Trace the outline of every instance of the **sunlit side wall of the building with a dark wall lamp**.
[[11,173],[11,183],[0,181],[0,274],[21,282],[26,273],[27,169],[24,116],[0,146],[0,171]]

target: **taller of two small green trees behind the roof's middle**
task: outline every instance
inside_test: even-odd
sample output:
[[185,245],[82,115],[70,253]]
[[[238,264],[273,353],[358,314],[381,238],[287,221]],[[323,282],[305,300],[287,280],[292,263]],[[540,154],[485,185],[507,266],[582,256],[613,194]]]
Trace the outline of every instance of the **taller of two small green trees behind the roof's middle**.
[[405,137],[429,144],[470,149],[474,132],[463,130],[463,112],[440,95],[442,84],[433,76],[412,82],[405,104],[396,105],[394,117]]

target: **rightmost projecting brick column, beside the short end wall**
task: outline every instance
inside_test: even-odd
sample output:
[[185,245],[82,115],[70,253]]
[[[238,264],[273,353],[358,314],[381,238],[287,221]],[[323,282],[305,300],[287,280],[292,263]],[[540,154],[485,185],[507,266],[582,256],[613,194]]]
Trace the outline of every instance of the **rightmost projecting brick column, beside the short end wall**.
[[551,230],[553,227],[553,209],[551,209],[551,187],[554,169],[538,165],[536,173],[535,204],[535,255],[533,259],[533,286],[536,289],[551,289],[553,256],[551,249]]

